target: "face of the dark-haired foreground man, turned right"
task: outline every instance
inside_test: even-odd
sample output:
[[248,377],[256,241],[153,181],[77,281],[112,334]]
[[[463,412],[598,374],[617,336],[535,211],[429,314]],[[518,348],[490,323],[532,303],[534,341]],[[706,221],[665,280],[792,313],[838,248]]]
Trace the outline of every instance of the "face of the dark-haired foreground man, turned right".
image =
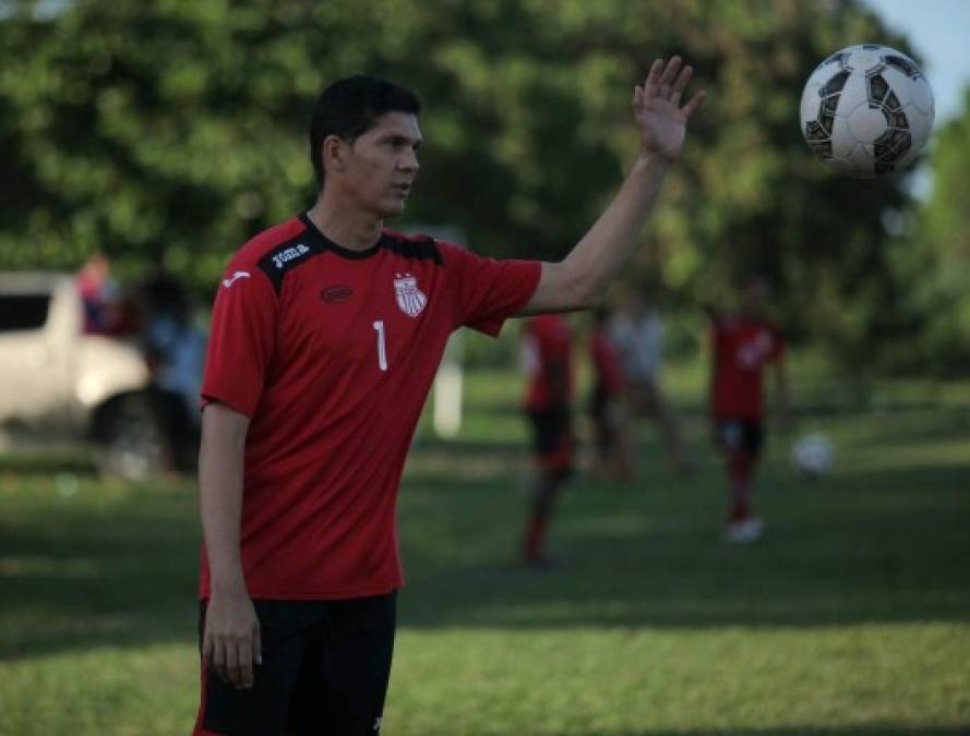
[[421,131],[409,112],[385,112],[349,146],[342,184],[358,206],[380,218],[404,210],[418,173]]

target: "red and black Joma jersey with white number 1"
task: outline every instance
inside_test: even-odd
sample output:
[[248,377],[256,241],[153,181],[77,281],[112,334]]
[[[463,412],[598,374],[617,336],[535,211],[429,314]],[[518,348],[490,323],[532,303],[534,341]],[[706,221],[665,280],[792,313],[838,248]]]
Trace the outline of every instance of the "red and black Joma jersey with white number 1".
[[[403,583],[396,500],[451,333],[498,335],[540,264],[384,230],[367,251],[302,215],[229,262],[202,388],[250,417],[240,547],[254,599],[346,599]],[[200,596],[209,595],[205,546]]]

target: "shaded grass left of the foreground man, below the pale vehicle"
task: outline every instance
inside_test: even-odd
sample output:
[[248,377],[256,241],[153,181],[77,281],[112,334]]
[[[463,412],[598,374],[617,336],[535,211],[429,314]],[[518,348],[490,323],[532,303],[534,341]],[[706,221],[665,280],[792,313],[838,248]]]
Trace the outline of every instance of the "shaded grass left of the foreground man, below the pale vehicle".
[[38,505],[0,522],[0,660],[189,641],[199,533],[188,492]]

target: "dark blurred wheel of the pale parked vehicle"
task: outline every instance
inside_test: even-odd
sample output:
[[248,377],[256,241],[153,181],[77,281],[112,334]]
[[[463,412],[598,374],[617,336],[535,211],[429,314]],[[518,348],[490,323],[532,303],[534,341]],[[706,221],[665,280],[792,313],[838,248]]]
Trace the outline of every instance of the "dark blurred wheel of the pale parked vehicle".
[[167,464],[165,435],[147,397],[128,396],[109,406],[97,438],[101,470],[107,475],[142,481]]

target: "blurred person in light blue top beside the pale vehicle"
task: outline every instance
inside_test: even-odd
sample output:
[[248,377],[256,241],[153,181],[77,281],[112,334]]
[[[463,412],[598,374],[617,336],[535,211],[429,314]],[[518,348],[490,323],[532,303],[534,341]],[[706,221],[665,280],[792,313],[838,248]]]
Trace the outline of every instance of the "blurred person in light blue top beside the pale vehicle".
[[205,336],[193,323],[184,285],[158,272],[142,287],[142,345],[152,374],[153,402],[177,470],[191,470],[200,437],[199,396]]

